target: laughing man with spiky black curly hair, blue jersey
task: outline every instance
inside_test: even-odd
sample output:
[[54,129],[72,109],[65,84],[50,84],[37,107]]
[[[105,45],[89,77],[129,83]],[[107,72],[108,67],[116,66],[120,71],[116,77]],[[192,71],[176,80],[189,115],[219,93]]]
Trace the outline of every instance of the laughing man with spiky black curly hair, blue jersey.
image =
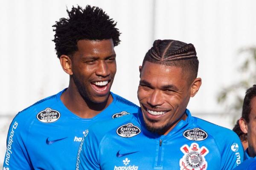
[[73,170],[84,131],[96,121],[137,112],[110,92],[116,73],[116,23],[98,7],[68,11],[55,49],[69,86],[19,112],[9,127],[4,170]]

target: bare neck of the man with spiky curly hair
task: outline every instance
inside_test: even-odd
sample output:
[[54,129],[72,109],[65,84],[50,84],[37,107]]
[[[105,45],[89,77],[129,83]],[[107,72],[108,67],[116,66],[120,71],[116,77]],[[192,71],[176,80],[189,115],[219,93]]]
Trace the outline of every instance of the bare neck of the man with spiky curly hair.
[[92,101],[84,100],[76,86],[70,84],[67,90],[62,93],[61,101],[75,115],[81,118],[93,118],[111,104],[113,97],[109,95],[106,101],[93,103]]

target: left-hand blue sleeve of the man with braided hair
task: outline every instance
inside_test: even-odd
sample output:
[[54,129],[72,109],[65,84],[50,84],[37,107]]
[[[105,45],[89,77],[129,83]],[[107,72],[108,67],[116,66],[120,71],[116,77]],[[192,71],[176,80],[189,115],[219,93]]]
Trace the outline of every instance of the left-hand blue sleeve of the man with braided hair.
[[78,150],[76,170],[100,170],[98,148],[96,135],[86,130]]

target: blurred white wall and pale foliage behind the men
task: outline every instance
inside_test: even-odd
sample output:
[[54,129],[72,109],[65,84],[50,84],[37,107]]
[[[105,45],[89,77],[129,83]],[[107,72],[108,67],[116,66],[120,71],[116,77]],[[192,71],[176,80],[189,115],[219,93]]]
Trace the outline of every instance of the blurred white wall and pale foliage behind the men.
[[154,40],[192,43],[203,84],[188,108],[233,128],[245,89],[256,83],[255,0],[1,0],[0,165],[17,112],[68,86],[52,25],[77,4],[99,6],[122,32],[112,92],[138,104],[139,66]]

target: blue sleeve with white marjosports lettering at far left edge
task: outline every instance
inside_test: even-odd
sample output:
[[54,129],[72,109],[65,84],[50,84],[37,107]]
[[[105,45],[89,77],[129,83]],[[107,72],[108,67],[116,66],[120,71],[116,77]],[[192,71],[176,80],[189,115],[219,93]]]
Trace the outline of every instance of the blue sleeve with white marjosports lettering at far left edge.
[[6,140],[6,154],[3,168],[9,170],[30,170],[29,156],[26,151],[23,123],[16,116],[8,131]]

